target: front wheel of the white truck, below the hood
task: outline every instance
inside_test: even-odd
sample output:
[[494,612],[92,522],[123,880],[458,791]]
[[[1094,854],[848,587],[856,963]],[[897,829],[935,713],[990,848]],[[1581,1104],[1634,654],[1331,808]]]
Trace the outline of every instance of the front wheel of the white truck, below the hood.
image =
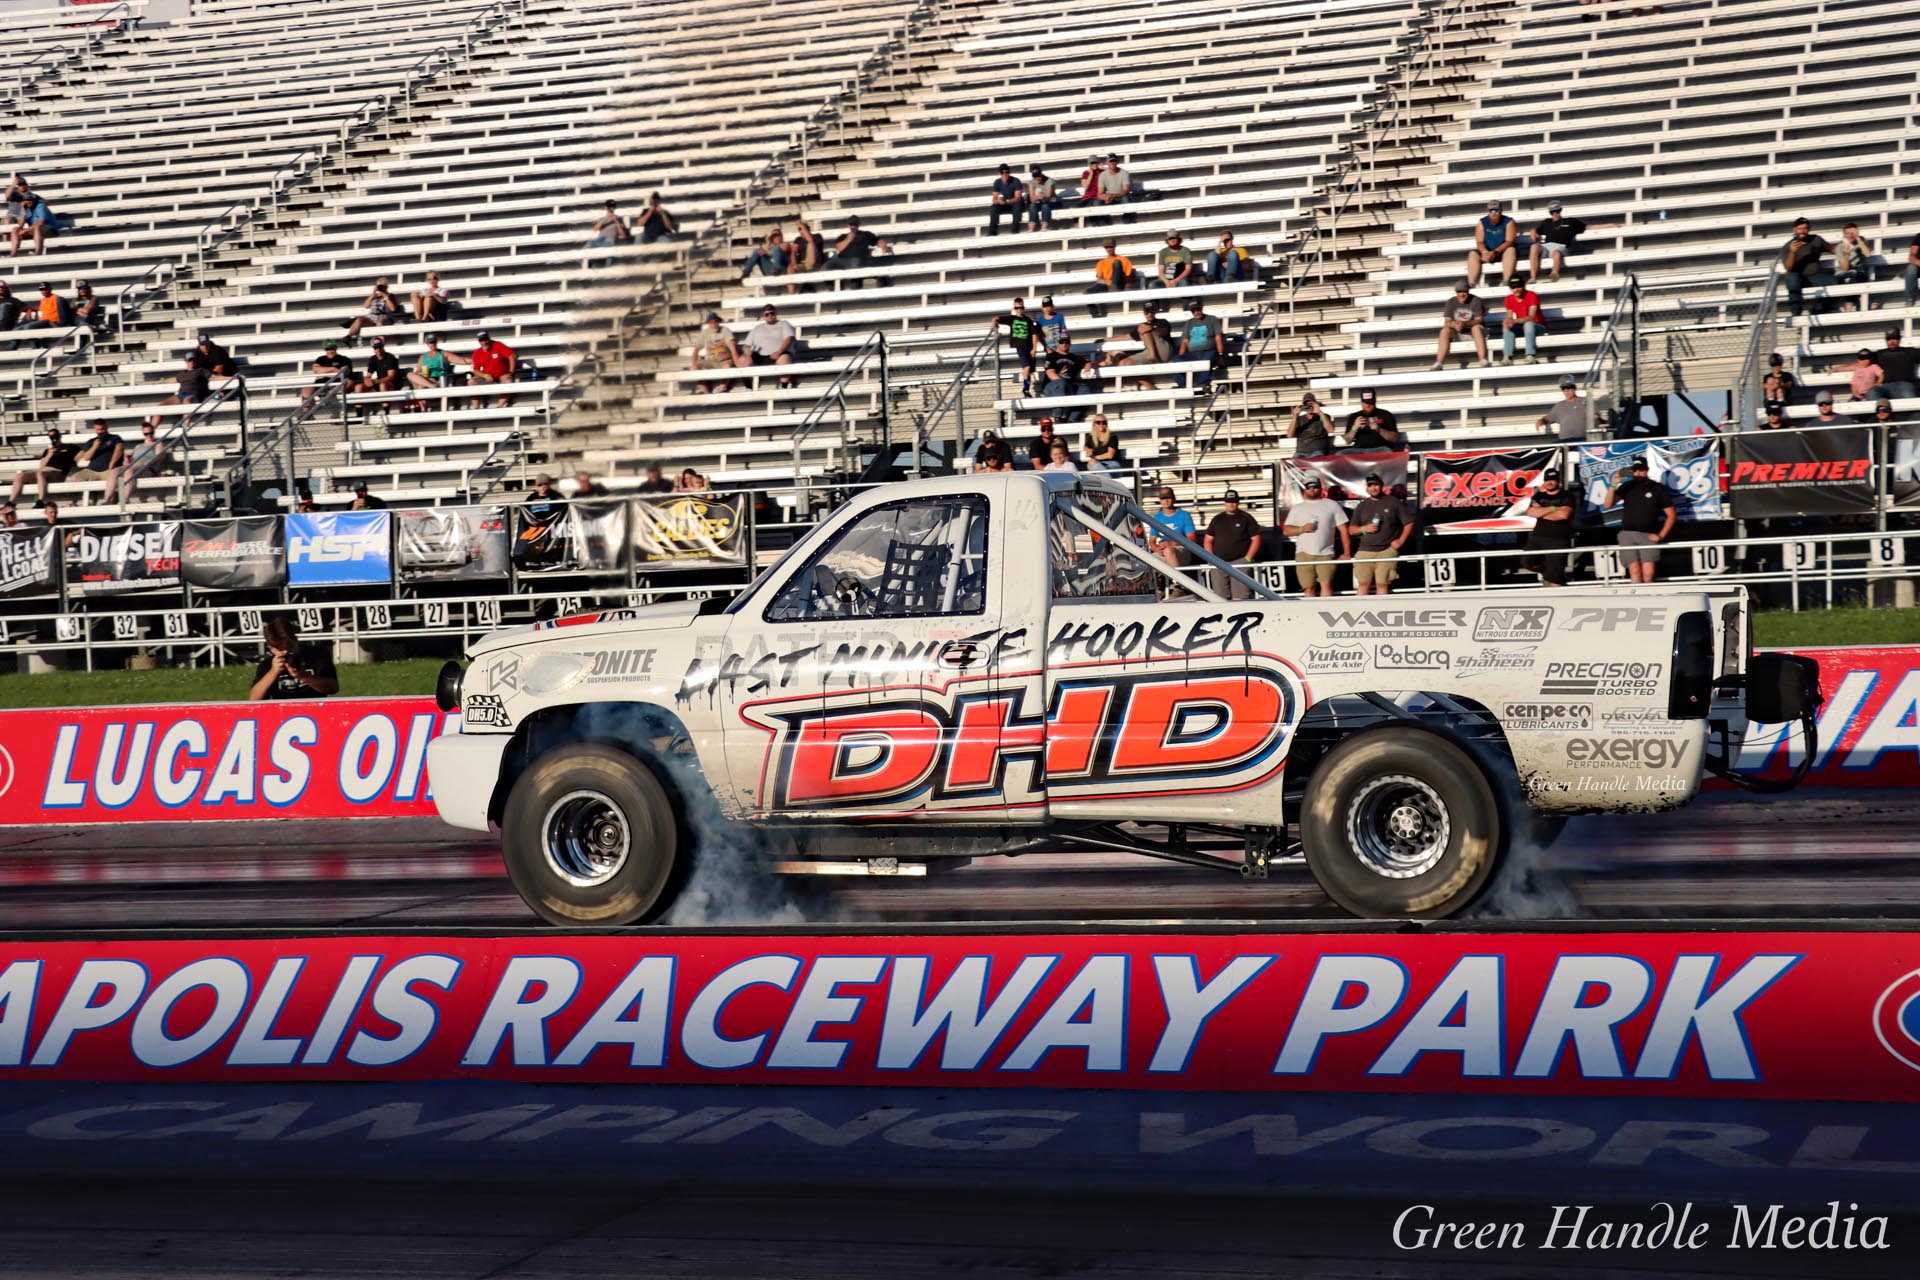
[[549,925],[647,923],[685,879],[666,787],[616,747],[543,754],[513,785],[499,831],[507,877]]

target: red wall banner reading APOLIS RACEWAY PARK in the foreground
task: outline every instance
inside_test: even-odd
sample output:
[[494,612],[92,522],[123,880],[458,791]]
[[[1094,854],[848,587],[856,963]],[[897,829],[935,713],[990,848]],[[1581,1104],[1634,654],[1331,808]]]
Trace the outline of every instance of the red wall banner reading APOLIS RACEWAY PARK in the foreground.
[[1916,933],[0,944],[0,1077],[1920,1100]]

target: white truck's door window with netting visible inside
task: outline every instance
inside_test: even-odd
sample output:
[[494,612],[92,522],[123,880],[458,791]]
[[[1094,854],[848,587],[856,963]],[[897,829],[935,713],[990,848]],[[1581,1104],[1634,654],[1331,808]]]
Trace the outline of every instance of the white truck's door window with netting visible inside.
[[987,612],[987,499],[916,497],[864,512],[780,589],[768,622]]

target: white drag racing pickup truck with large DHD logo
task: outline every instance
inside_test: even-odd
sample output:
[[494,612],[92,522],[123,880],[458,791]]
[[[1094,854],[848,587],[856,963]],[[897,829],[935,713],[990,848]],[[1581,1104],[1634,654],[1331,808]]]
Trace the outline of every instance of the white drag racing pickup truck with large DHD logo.
[[1749,718],[1814,754],[1816,672],[1749,652],[1738,587],[1284,599],[1177,537],[1098,474],[866,491],[732,601],[449,662],[434,804],[561,925],[657,919],[741,850],[1304,862],[1352,913],[1442,917],[1569,814],[1686,804]]

